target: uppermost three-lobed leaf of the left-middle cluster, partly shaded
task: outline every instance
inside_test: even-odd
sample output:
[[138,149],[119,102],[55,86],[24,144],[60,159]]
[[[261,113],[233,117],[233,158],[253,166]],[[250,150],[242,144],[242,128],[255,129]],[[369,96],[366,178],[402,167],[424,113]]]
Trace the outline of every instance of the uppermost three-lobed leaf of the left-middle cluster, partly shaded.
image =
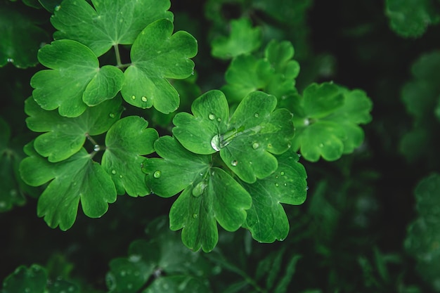
[[62,117],[58,111],[43,110],[34,99],[25,101],[27,127],[32,131],[46,132],[34,141],[39,155],[49,162],[60,162],[77,153],[84,145],[86,136],[103,134],[119,119],[122,112],[121,99],[115,98],[95,107],[87,108],[75,118]]

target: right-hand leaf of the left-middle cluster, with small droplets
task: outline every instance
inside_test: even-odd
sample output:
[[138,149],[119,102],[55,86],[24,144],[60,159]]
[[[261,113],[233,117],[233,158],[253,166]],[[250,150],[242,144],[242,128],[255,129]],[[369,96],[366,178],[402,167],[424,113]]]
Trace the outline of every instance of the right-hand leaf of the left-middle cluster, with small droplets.
[[103,168],[112,176],[119,195],[147,195],[145,175],[141,163],[154,152],[153,143],[159,137],[155,129],[147,128],[148,122],[141,117],[129,116],[112,125],[105,136]]

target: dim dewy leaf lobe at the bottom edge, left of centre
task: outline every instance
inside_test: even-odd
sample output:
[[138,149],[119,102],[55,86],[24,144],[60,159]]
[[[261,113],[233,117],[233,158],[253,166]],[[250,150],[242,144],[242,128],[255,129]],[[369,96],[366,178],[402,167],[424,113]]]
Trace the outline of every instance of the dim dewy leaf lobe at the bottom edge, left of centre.
[[173,275],[158,278],[143,293],[178,293],[178,292],[211,292],[201,280],[188,275]]

